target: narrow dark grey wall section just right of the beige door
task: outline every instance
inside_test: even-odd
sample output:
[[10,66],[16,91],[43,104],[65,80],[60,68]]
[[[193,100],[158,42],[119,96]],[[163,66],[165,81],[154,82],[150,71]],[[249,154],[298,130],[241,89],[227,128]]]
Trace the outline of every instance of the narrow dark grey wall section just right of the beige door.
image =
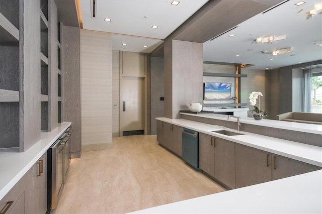
[[164,117],[164,58],[151,57],[150,61],[150,135],[156,135],[157,117]]

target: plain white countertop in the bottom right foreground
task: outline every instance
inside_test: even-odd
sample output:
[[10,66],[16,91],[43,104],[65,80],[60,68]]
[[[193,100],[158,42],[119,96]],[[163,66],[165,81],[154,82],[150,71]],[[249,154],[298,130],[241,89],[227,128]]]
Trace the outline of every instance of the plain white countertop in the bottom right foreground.
[[322,213],[322,170],[133,213]]

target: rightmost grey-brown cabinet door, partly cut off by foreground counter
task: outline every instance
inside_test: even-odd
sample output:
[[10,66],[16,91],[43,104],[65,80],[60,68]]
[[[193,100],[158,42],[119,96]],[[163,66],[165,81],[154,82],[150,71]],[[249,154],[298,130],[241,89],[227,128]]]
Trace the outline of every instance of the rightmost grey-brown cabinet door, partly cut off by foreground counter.
[[287,158],[284,156],[273,154],[272,156],[273,170],[272,178],[277,180],[280,178],[290,177],[293,175],[299,175],[306,172],[311,172],[321,169],[321,167],[314,166],[308,163],[304,163],[298,160]]

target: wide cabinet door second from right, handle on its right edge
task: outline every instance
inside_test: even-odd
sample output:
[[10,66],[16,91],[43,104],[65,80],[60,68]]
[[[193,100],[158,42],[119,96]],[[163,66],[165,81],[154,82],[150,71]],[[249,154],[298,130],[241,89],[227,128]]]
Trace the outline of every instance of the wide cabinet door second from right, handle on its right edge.
[[235,144],[235,187],[272,180],[271,153]]

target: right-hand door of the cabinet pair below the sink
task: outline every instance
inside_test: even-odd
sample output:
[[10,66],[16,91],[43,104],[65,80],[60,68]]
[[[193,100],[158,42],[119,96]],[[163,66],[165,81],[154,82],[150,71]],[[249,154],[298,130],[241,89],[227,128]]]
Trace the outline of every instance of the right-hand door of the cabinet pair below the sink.
[[221,138],[214,141],[215,178],[235,188],[235,143]]

